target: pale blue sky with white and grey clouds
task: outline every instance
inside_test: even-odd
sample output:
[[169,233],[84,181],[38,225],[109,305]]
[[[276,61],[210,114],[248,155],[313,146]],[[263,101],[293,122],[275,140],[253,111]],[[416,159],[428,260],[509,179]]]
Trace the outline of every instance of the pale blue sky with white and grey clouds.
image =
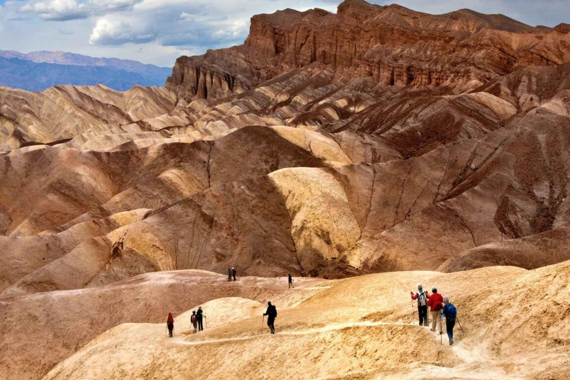
[[[180,55],[243,43],[251,15],[336,11],[341,0],[0,0],[0,50],[71,51],[170,67]],[[570,23],[570,0],[392,0],[432,14],[470,8],[530,25]]]

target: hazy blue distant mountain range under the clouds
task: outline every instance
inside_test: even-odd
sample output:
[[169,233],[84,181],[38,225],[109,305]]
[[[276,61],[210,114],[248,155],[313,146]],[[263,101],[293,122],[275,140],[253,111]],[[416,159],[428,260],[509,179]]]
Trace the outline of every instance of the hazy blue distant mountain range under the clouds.
[[62,51],[0,50],[0,86],[43,91],[60,84],[104,84],[114,90],[140,86],[164,86],[172,68],[135,60],[94,58]]

